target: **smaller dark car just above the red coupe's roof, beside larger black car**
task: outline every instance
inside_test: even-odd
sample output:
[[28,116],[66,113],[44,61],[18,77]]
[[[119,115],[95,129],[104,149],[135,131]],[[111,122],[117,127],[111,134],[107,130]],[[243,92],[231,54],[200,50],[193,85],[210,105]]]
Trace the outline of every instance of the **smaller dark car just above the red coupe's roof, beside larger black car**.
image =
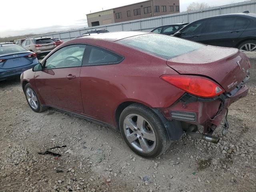
[[172,25],[163,25],[157,28],[154,28],[152,33],[160,33],[165,35],[172,35],[176,33],[178,30],[182,29],[184,26],[188,25],[189,23],[178,23],[178,24],[172,24]]

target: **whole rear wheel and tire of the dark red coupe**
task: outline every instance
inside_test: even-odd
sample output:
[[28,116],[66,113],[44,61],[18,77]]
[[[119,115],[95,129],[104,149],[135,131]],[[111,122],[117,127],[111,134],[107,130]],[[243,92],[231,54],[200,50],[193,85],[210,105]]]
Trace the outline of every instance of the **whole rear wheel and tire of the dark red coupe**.
[[126,144],[138,155],[155,158],[170,146],[160,118],[148,107],[132,104],[120,115],[120,132]]

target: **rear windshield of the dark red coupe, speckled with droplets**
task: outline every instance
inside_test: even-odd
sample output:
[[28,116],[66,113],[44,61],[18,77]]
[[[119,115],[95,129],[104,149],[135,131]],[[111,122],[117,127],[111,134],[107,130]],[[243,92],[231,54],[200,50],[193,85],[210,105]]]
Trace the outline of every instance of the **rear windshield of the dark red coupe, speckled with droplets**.
[[204,44],[161,34],[138,35],[124,38],[116,42],[164,59],[174,58],[206,46]]

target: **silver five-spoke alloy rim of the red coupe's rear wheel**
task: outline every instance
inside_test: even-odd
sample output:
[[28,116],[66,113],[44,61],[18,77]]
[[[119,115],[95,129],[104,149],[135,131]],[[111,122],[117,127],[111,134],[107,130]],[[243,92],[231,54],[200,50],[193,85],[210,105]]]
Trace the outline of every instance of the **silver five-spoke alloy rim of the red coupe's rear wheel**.
[[138,151],[150,153],[156,147],[156,134],[150,123],[138,114],[129,114],[124,119],[124,134]]

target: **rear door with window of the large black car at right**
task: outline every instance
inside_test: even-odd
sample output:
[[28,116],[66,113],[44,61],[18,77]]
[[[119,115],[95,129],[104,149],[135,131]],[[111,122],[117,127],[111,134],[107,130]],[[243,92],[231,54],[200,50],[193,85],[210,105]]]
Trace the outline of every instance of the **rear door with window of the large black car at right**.
[[200,42],[214,46],[234,47],[234,40],[241,34],[241,31],[234,29],[235,21],[235,17],[207,20],[200,34]]

